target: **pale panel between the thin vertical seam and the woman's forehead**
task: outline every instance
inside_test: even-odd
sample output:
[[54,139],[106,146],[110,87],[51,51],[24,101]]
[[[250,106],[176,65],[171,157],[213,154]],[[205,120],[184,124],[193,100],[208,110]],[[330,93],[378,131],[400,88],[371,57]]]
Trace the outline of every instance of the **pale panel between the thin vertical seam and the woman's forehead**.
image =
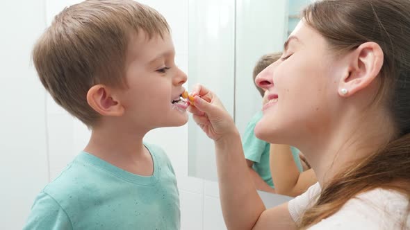
[[252,78],[254,66],[262,55],[282,51],[287,37],[288,0],[236,2],[235,123],[243,134],[252,116],[262,108],[262,97]]

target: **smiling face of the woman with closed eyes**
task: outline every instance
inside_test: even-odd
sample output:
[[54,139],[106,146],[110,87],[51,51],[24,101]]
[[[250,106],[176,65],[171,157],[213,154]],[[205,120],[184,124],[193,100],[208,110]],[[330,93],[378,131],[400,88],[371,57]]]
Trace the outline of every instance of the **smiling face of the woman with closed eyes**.
[[285,43],[281,59],[256,77],[256,84],[268,90],[256,136],[292,144],[326,130],[341,73],[324,37],[301,21]]

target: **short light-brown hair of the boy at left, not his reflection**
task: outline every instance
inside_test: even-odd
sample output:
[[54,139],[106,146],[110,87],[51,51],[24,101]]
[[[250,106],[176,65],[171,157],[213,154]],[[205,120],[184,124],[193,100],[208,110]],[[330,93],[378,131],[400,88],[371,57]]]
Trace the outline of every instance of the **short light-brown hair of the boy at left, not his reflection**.
[[92,127],[100,115],[87,103],[97,84],[126,87],[126,50],[132,33],[164,37],[165,18],[132,0],[88,0],[65,8],[38,39],[33,62],[45,89],[70,114]]

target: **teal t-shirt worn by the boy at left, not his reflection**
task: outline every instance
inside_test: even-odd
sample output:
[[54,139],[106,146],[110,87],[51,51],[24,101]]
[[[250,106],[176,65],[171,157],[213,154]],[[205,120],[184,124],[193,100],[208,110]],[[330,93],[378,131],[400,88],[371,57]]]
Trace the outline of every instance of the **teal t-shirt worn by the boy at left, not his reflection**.
[[170,160],[161,148],[145,146],[154,161],[149,177],[81,152],[35,199],[24,229],[179,229]]

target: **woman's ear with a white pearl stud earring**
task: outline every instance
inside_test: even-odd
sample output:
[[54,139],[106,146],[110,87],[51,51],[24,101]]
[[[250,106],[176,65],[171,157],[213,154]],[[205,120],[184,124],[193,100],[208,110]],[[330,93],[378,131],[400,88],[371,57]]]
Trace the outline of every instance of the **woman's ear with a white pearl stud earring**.
[[349,67],[339,84],[339,94],[343,97],[352,96],[368,87],[379,75],[384,62],[382,48],[375,42],[361,44],[350,55]]

